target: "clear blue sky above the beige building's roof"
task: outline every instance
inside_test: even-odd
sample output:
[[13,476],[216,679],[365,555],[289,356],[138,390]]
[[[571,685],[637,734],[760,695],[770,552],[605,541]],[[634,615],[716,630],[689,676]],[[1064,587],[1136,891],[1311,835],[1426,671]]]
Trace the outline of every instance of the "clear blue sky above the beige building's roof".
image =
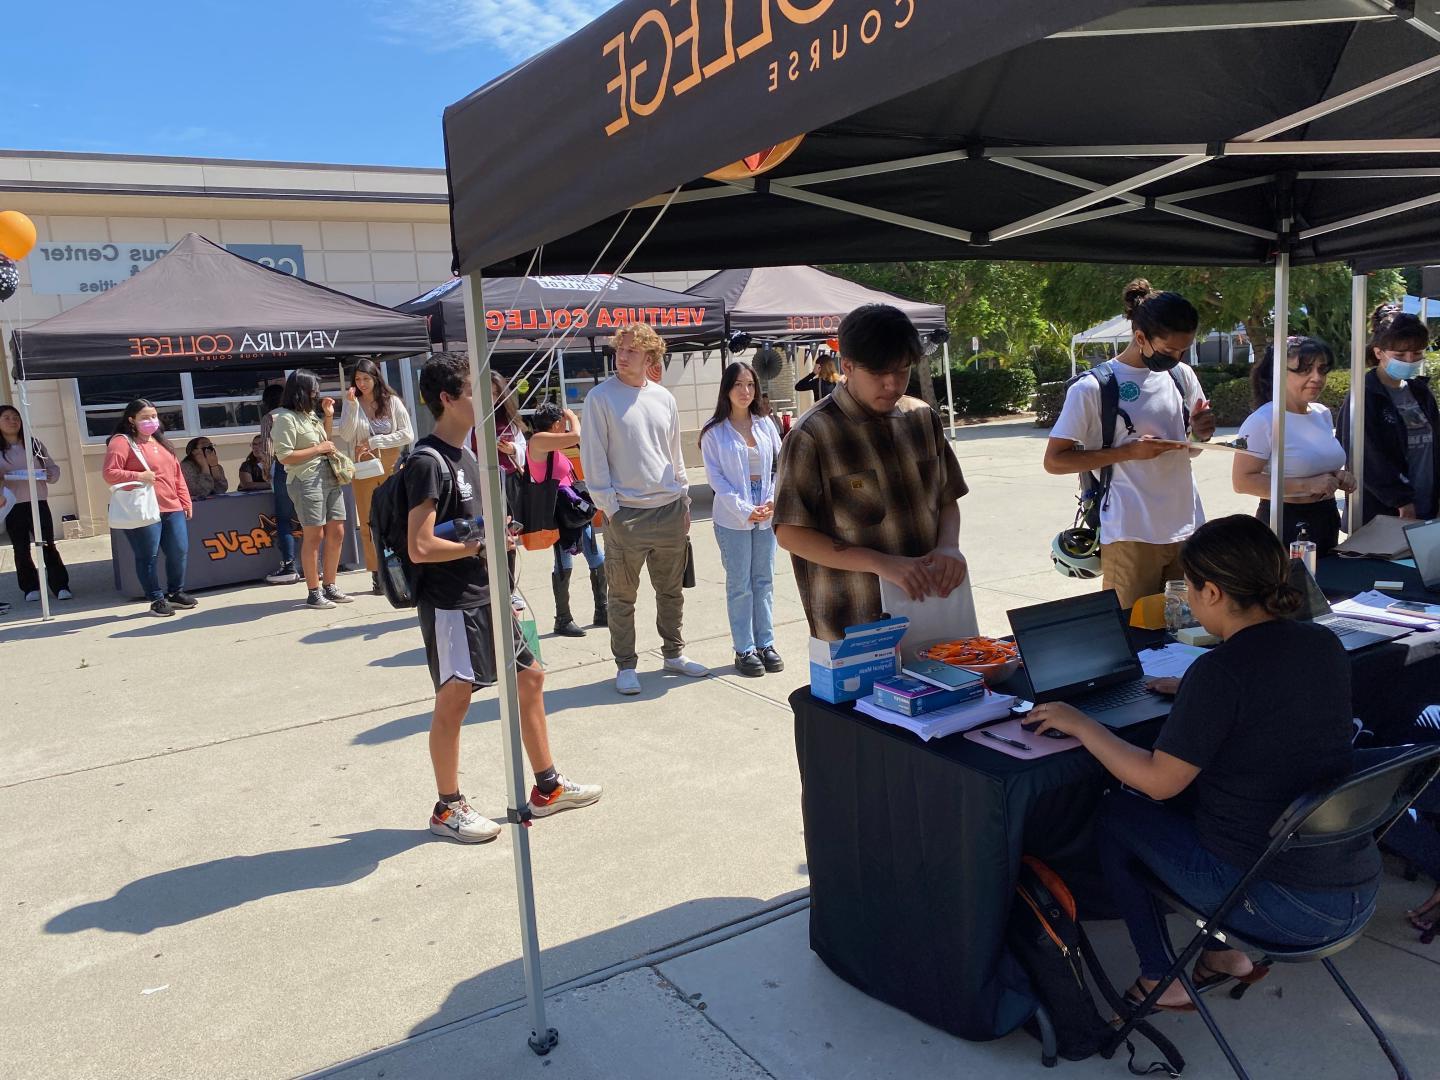
[[609,6],[16,0],[0,147],[439,167],[448,104]]

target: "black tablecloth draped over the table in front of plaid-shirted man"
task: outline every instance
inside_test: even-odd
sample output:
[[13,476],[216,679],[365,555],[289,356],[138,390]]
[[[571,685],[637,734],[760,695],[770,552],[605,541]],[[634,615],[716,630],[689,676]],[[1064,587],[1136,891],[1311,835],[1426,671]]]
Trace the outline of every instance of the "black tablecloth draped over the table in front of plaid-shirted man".
[[[1133,634],[1140,645],[1158,636]],[[1418,711],[1410,703],[1440,698],[1440,634],[1351,662],[1356,714],[1371,730],[1403,730]],[[1002,948],[1021,854],[1050,863],[1083,900],[1107,773],[1079,749],[1025,762],[958,734],[923,743],[805,688],[791,708],[811,948],[851,985],[953,1035],[1012,1031],[1035,1007]],[[1148,744],[1158,730],[1125,734]]]

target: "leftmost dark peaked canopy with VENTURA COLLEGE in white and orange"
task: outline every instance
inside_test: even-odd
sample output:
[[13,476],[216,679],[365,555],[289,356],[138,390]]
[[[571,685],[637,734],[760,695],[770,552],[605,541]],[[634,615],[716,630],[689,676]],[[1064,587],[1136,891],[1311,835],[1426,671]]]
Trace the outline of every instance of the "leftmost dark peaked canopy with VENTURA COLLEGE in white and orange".
[[294,278],[189,233],[115,288],[14,331],[16,379],[298,367],[429,351],[425,320]]

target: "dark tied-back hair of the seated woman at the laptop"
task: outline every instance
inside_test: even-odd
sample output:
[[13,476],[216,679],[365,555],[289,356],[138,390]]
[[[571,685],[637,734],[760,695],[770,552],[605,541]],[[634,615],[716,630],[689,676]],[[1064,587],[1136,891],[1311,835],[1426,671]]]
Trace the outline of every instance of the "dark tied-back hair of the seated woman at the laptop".
[[1241,608],[1284,618],[1305,596],[1290,585],[1290,556],[1259,518],[1231,514],[1207,521],[1179,549],[1179,566],[1192,588],[1208,582]]

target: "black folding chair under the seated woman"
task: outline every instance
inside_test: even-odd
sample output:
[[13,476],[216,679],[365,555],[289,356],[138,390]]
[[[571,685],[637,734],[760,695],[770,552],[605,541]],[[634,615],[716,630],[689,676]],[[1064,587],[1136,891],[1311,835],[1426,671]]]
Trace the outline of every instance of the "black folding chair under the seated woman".
[[[1201,992],[1195,989],[1195,984],[1187,971],[1191,959],[1201,950],[1201,946],[1212,937],[1231,948],[1263,953],[1261,963],[1306,963],[1309,960],[1323,963],[1325,971],[1331,973],[1331,978],[1339,985],[1351,1005],[1359,1012],[1361,1020],[1374,1032],[1380,1048],[1385,1051],[1385,1057],[1394,1066],[1398,1080],[1411,1080],[1410,1070],[1400,1060],[1400,1054],[1391,1044],[1390,1037],[1375,1022],[1375,1018],[1369,1015],[1369,1011],[1355,996],[1355,991],[1341,978],[1339,971],[1336,971],[1335,963],[1331,960],[1335,953],[1346,949],[1351,942],[1361,936],[1365,929],[1364,926],[1356,927],[1344,937],[1308,948],[1274,945],[1254,937],[1241,939],[1240,935],[1225,926],[1225,916],[1240,903],[1246,887],[1253,880],[1263,877],[1266,867],[1282,851],[1345,844],[1364,835],[1382,837],[1424,786],[1440,772],[1440,743],[1364,750],[1356,753],[1356,762],[1359,768],[1349,778],[1325,789],[1302,795],[1290,804],[1289,809],[1270,828],[1270,845],[1264,854],[1241,876],[1236,887],[1230,890],[1230,894],[1225,896],[1214,912],[1205,913],[1184,897],[1176,896],[1159,878],[1148,876],[1146,886],[1151,890],[1161,924],[1165,927],[1162,937],[1171,966],[1165,978],[1159,981],[1155,989],[1145,996],[1145,1001],[1132,1011],[1130,1018],[1110,1037],[1102,1051],[1104,1057],[1115,1054],[1135,1024],[1151,1011],[1161,994],[1165,992],[1165,988],[1175,979],[1179,979],[1189,999],[1195,1002],[1201,1020],[1205,1021],[1205,1027],[1210,1028],[1210,1034],[1214,1035],[1225,1060],[1230,1061],[1230,1067],[1236,1070],[1236,1076],[1240,1080],[1248,1080],[1250,1074],[1246,1073],[1240,1064],[1240,1058],[1230,1048],[1230,1043],[1220,1032],[1215,1018],[1205,1007]],[[1200,927],[1200,933],[1191,939],[1178,956],[1169,937],[1169,927],[1165,923],[1166,909],[1184,914]],[[1246,984],[1237,982],[1230,989],[1230,996],[1238,999],[1244,995],[1246,989],[1248,989]]]

